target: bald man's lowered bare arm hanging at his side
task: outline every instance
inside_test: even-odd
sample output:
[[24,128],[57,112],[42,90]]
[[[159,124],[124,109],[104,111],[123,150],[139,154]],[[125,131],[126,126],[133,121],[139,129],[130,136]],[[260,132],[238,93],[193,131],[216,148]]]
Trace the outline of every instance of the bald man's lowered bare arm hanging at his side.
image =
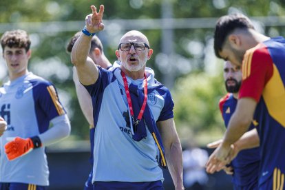
[[165,158],[173,183],[176,189],[184,189],[182,179],[182,148],[174,120],[173,118],[169,118],[168,120],[159,121],[157,125],[163,146],[165,147]]

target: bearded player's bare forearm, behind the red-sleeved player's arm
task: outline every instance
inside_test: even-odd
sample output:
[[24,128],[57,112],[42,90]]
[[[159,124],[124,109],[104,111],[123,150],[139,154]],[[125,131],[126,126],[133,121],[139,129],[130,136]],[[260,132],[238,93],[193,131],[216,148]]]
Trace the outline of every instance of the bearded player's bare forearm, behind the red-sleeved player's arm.
[[234,146],[239,150],[243,149],[251,149],[260,146],[260,138],[257,134],[257,129],[252,129],[251,131],[247,131],[237,142],[235,142]]

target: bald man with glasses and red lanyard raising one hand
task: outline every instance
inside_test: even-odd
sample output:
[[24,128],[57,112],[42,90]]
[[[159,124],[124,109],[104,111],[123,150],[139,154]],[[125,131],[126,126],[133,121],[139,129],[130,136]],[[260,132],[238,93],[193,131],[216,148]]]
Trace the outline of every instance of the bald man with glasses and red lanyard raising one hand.
[[167,167],[176,189],[182,183],[182,149],[169,90],[145,67],[153,50],[136,30],[116,50],[120,67],[105,70],[87,56],[92,36],[103,30],[104,6],[85,19],[72,48],[72,63],[94,106],[94,189],[163,189]]

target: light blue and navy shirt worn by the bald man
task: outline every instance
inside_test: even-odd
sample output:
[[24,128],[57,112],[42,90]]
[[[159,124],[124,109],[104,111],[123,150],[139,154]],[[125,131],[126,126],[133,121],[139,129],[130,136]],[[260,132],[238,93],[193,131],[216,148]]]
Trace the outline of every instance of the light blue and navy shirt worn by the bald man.
[[[147,137],[132,139],[127,96],[120,68],[112,71],[98,67],[96,83],[85,86],[94,106],[94,181],[151,182],[163,180],[158,165],[160,152],[147,129]],[[147,105],[155,121],[173,118],[173,101],[167,88],[147,69]],[[143,89],[142,80],[131,81]],[[159,88],[158,88],[159,87]],[[147,127],[146,127],[147,128]]]

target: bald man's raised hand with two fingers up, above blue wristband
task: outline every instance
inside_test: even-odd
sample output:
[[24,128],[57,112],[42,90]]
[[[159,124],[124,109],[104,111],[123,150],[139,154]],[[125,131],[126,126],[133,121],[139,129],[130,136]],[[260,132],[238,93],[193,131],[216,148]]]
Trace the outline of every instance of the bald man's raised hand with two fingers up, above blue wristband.
[[104,6],[101,5],[99,12],[95,6],[91,6],[92,14],[88,14],[85,18],[86,30],[90,33],[96,33],[104,29],[102,22]]

